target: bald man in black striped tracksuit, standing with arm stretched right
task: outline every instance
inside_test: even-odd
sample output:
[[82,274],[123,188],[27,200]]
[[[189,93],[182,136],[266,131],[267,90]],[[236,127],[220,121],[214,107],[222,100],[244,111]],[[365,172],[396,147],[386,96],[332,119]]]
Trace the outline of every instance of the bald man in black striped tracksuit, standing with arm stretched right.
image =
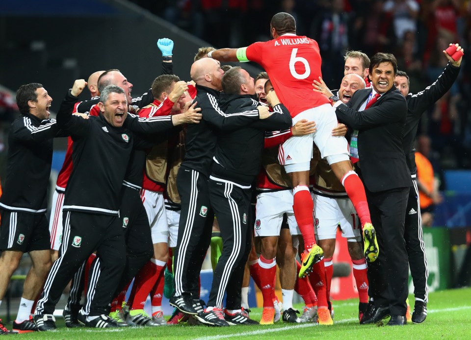
[[177,176],[182,212],[174,259],[176,292],[170,298],[170,305],[190,315],[202,312],[198,277],[211,240],[214,220],[209,203],[208,180],[216,146],[216,131],[233,129],[259,119],[258,112],[228,116],[219,108],[223,73],[219,62],[210,58],[195,61],[190,70],[191,79],[196,83],[196,107],[201,108],[203,119],[199,124],[187,125],[186,153]]

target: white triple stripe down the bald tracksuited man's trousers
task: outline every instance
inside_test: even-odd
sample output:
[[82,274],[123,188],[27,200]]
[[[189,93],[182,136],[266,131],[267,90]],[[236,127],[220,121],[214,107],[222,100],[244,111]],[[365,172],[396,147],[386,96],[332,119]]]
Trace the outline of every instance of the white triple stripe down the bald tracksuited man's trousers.
[[198,177],[200,173],[195,170],[191,171],[191,184],[190,184],[190,205],[188,208],[188,216],[186,217],[185,229],[183,231],[182,242],[178,249],[177,263],[175,265],[175,295],[179,296],[183,293],[183,262],[186,256],[186,248],[191,238],[191,232],[193,230],[193,222],[195,220],[196,214],[196,201],[198,200],[198,190],[196,183],[198,182]]

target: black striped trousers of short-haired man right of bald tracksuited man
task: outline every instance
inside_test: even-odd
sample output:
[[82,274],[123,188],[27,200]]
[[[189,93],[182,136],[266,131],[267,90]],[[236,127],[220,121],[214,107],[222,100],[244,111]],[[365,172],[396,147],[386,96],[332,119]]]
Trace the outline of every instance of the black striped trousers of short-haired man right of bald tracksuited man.
[[250,188],[209,179],[209,195],[223,242],[212,278],[209,307],[223,308],[227,288],[226,308],[240,309],[244,267],[252,245],[251,193]]

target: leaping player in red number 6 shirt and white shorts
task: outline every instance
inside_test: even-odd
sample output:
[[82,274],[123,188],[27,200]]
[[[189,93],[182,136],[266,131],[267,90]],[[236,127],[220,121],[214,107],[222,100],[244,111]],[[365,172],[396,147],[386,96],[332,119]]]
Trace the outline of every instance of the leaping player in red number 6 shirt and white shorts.
[[[317,131],[306,136],[293,136],[279,148],[278,159],[289,173],[294,195],[294,216],[304,238],[305,251],[299,276],[305,276],[323,258],[322,249],[315,243],[313,200],[309,193],[309,168],[313,156],[313,140],[337,178],[345,187],[357,211],[365,241],[365,257],[376,260],[379,247],[371,224],[365,188],[353,171],[348,144],[344,137],[332,136],[337,126],[334,109],[325,96],[312,90],[312,81],[321,76],[321,58],[317,42],[296,35],[296,23],[288,13],[277,13],[270,23],[272,40],[254,43],[239,49],[217,49],[208,57],[229,61],[255,61],[268,73],[282,103],[286,105],[293,124],[306,119],[315,121]],[[323,267],[323,266],[320,266]],[[320,268],[322,271],[322,268]]]

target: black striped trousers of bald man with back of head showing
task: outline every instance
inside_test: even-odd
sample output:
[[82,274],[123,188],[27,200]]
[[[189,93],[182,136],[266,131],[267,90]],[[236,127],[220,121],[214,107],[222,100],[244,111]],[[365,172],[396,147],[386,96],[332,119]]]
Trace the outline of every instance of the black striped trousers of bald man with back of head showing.
[[192,169],[180,168],[177,188],[182,211],[174,253],[175,294],[200,296],[198,278],[211,242],[214,213],[209,202],[208,178]]

